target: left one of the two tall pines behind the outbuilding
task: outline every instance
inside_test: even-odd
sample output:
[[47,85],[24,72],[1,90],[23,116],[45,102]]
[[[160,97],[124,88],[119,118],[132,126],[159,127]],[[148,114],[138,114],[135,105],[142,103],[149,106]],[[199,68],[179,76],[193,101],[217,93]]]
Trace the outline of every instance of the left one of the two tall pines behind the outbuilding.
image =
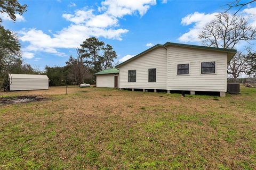
[[92,72],[101,71],[101,61],[102,57],[100,56],[100,50],[103,49],[105,43],[103,41],[99,41],[95,37],[87,38],[81,44],[81,48],[78,48],[79,53],[82,55],[81,57],[85,58],[85,64],[87,64]]

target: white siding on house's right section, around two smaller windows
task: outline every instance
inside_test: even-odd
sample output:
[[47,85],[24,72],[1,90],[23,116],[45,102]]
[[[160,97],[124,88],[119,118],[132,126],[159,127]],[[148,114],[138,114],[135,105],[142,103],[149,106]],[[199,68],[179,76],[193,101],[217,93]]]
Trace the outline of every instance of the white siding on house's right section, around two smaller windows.
[[[215,62],[215,74],[201,74],[201,62]],[[189,63],[189,75],[177,76],[177,64]],[[167,47],[167,90],[227,91],[227,53]]]

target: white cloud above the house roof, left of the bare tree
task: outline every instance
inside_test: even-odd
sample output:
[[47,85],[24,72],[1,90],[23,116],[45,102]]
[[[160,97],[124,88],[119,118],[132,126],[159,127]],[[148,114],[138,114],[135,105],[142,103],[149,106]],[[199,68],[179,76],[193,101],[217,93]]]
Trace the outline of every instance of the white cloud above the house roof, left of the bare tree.
[[211,14],[205,14],[205,13],[199,13],[195,12],[193,14],[189,14],[181,19],[182,25],[190,25],[194,24],[192,28],[189,29],[188,32],[184,33],[179,37],[179,41],[181,42],[197,42],[200,41],[198,38],[199,33],[203,30],[204,25],[211,22],[215,15],[218,13],[211,13]]

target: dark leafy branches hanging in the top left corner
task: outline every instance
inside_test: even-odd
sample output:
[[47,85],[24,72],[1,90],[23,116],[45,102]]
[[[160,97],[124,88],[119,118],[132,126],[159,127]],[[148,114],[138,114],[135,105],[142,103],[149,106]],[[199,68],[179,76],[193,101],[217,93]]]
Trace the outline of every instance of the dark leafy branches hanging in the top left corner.
[[[16,14],[22,15],[26,12],[27,5],[20,5],[17,0],[1,0],[0,13],[6,13],[12,21],[16,21]],[[0,22],[2,19],[0,18]]]

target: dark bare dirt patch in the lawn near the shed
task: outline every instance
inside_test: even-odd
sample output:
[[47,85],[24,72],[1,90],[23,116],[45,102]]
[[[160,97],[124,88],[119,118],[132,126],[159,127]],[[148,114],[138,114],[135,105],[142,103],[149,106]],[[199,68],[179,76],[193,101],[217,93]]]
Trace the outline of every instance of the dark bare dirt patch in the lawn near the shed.
[[17,97],[2,97],[0,104],[17,104],[17,103],[30,103],[33,101],[45,100],[42,96],[17,96]]

